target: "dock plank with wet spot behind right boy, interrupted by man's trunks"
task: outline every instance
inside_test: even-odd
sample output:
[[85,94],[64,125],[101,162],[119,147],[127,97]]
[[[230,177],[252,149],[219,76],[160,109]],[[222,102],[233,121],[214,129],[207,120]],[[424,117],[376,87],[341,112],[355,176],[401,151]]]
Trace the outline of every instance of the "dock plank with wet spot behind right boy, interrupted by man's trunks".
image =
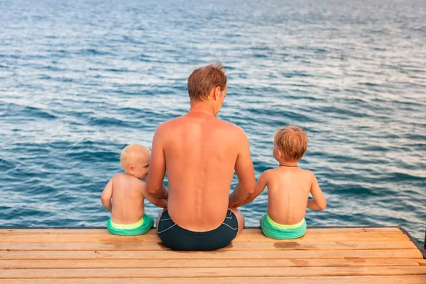
[[[323,250],[417,249],[409,241],[346,241],[346,242],[251,242],[229,244],[224,251],[323,251]],[[0,243],[0,251],[163,251],[161,243]]]

